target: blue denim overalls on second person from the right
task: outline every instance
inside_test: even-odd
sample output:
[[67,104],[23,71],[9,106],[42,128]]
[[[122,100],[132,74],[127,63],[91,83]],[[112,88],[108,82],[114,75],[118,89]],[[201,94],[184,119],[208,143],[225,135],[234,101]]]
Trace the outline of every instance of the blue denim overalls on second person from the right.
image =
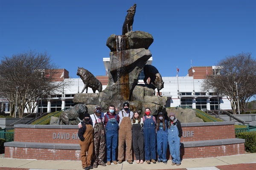
[[[165,130],[163,130],[163,126],[165,126]],[[167,161],[166,152],[168,146],[168,127],[163,122],[160,122],[159,130],[157,130],[157,154],[158,161]]]

